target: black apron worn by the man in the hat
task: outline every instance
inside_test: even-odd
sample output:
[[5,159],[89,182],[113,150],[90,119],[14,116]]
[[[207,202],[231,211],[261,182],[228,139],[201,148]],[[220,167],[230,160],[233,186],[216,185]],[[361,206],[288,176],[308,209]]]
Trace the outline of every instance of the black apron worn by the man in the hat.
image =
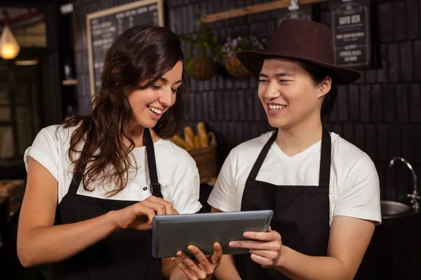
[[[305,255],[326,255],[329,239],[329,182],[331,140],[323,127],[319,186],[276,186],[256,181],[256,176],[277,131],[262,148],[246,181],[241,211],[272,209],[271,228],[282,237],[282,244]],[[276,174],[274,174],[276,176]],[[237,255],[241,279],[288,279],[273,267],[263,268],[250,254]]]

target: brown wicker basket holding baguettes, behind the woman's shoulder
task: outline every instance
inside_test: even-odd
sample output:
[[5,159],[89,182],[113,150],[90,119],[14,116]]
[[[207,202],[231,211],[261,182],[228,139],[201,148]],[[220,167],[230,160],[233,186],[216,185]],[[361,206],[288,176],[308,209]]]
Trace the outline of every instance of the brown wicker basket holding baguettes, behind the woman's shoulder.
[[208,133],[210,144],[206,148],[194,148],[189,151],[199,169],[200,183],[208,183],[218,176],[216,171],[216,140],[215,134]]

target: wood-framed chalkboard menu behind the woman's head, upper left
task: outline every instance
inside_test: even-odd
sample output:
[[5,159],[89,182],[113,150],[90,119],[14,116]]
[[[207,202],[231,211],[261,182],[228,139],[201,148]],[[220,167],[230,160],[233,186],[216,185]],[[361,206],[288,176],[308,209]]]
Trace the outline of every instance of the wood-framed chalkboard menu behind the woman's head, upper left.
[[86,15],[91,96],[101,85],[105,54],[123,31],[142,23],[163,26],[163,0],[143,0]]

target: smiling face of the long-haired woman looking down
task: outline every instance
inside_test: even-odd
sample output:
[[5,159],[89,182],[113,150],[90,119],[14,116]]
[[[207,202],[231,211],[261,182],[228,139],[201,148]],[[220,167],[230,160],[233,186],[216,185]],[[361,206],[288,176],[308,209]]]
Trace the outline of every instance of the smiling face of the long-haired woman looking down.
[[156,82],[143,90],[134,90],[128,95],[133,111],[133,124],[154,127],[161,116],[174,105],[178,87],[182,83],[182,62],[166,72]]

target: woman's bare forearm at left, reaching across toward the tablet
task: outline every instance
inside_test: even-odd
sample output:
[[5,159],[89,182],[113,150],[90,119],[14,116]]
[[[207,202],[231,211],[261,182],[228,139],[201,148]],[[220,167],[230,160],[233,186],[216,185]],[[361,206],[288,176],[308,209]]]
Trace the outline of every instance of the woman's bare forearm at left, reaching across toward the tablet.
[[59,262],[118,229],[114,212],[67,225],[40,226],[18,233],[18,256],[25,267]]

